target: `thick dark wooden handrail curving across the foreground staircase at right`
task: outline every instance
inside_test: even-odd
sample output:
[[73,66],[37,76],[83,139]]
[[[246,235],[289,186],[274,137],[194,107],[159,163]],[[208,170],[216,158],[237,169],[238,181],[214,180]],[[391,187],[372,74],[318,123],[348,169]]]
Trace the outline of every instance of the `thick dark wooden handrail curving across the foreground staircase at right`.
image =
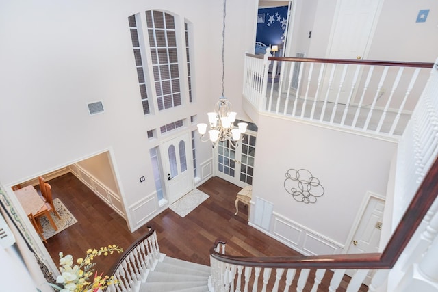
[[409,243],[411,237],[432,206],[438,194],[438,159],[435,159],[394,234],[382,253],[335,254],[324,256],[244,257],[216,252],[216,246],[224,241],[217,239],[210,248],[210,255],[218,261],[234,265],[272,268],[318,268],[318,269],[391,269]]

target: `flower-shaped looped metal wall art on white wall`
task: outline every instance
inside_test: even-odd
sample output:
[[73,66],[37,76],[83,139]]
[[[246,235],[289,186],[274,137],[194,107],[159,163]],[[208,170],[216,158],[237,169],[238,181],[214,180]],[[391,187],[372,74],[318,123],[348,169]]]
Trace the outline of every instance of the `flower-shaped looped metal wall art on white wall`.
[[315,178],[309,170],[291,168],[287,170],[285,176],[285,190],[297,202],[315,203],[318,197],[324,195],[324,187],[320,184],[320,180]]

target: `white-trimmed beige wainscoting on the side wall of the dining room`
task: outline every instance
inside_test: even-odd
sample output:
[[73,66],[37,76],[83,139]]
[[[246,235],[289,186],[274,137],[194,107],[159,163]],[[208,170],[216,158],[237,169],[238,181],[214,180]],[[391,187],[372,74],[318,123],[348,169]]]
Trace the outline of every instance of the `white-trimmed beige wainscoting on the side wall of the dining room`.
[[94,194],[99,196],[104,202],[108,204],[114,211],[116,211],[120,216],[125,218],[126,215],[123,209],[122,201],[120,196],[114,193],[111,189],[105,186],[103,183],[94,178],[86,170],[83,170],[79,165],[70,165],[70,172],[74,174],[79,181],[84,183],[88,188],[94,191]]

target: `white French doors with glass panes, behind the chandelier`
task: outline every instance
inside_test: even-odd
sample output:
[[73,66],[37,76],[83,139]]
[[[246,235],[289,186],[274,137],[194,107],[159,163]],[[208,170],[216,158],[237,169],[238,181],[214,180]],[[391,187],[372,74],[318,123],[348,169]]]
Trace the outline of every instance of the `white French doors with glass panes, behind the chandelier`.
[[256,133],[246,131],[244,140],[234,148],[230,142],[219,142],[216,147],[216,175],[239,187],[253,185]]

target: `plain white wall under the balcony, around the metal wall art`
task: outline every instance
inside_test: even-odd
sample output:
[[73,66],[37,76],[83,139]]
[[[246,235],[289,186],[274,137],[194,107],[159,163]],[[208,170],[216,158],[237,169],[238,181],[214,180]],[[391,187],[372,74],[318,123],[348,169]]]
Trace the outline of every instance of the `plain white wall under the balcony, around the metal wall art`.
[[[394,142],[260,116],[253,201],[259,197],[274,204],[275,216],[284,217],[292,229],[305,226],[307,233],[342,248],[365,194],[385,196],[395,150]],[[319,179],[325,193],[315,204],[296,202],[285,191],[290,168],[304,168]],[[319,253],[318,248],[309,252]]]

